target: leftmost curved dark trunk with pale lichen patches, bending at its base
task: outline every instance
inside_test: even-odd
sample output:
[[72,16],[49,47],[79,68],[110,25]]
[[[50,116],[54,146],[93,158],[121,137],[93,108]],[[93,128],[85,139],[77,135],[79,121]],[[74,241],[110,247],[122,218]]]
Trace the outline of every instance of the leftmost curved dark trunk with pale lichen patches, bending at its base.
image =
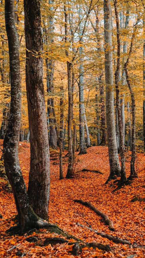
[[11,102],[10,119],[3,143],[3,157],[6,175],[12,187],[14,200],[19,216],[21,231],[41,227],[46,223],[40,219],[29,203],[26,185],[23,180],[18,158],[18,142],[21,125],[21,76],[19,62],[19,40],[14,19],[14,1],[5,1],[5,21],[8,36],[10,77],[11,77]]

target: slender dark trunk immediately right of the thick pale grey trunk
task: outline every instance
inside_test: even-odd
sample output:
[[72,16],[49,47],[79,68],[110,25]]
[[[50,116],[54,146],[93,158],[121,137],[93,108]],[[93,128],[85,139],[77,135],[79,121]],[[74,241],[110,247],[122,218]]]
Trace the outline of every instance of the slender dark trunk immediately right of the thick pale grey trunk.
[[115,71],[115,88],[116,88],[116,106],[118,114],[118,129],[120,139],[120,156],[121,156],[121,178],[120,181],[126,181],[125,172],[125,154],[124,154],[124,136],[122,127],[121,108],[119,103],[119,70],[120,70],[120,32],[119,32],[119,18],[117,11],[117,0],[114,1],[115,17],[116,17],[116,28],[117,28],[117,66]]

